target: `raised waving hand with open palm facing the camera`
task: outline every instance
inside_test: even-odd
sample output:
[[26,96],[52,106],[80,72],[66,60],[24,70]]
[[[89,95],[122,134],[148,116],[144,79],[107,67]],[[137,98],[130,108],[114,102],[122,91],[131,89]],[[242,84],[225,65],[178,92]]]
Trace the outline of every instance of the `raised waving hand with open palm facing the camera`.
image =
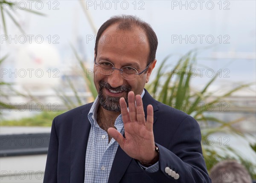
[[148,105],[147,121],[145,121],[143,102],[140,95],[134,97],[134,92],[129,92],[128,105],[129,110],[125,99],[120,99],[125,138],[114,128],[109,128],[108,134],[119,143],[120,147],[131,158],[143,163],[150,163],[157,156],[153,134],[153,107]]

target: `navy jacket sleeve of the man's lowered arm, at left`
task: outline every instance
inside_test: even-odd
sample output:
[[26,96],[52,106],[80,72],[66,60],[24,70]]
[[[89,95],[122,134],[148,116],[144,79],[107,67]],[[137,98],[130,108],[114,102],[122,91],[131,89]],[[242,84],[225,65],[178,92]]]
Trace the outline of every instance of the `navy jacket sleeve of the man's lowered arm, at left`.
[[58,137],[55,130],[55,119],[52,121],[52,130],[47,153],[47,162],[44,172],[44,183],[57,183],[58,164]]

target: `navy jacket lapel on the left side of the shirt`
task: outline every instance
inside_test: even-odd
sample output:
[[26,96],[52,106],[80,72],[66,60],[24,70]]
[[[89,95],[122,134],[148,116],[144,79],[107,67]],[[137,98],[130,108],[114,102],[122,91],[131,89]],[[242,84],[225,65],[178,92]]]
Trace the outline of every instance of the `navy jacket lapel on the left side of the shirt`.
[[73,118],[71,131],[71,165],[70,182],[84,182],[84,163],[87,148],[87,141],[90,133],[90,121],[88,113],[92,104],[84,105],[84,110],[80,115]]

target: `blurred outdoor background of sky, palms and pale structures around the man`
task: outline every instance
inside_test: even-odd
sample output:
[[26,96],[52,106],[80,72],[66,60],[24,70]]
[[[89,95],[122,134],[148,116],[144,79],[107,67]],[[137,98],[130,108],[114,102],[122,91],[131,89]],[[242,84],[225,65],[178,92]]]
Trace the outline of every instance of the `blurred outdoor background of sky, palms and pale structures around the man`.
[[198,121],[209,175],[236,159],[256,180],[256,1],[0,3],[0,182],[43,181],[52,119],[97,96],[96,33],[119,14],[156,32],[146,88]]

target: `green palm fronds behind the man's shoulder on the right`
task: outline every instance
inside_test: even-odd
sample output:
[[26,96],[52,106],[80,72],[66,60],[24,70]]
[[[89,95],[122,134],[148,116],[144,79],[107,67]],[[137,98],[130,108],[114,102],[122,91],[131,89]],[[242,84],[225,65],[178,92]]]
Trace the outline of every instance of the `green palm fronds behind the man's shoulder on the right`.
[[[153,82],[148,83],[146,88],[158,101],[179,110],[183,110],[183,112],[192,115],[197,121],[203,122],[204,128],[201,128],[202,137],[208,138],[210,135],[223,132],[245,138],[244,133],[241,132],[240,129],[234,127],[234,124],[244,121],[244,117],[233,121],[223,121],[216,115],[210,115],[207,109],[207,104],[211,104],[216,109],[221,102],[231,96],[234,92],[243,88],[248,88],[254,83],[239,84],[233,89],[227,90],[221,96],[212,97],[214,92],[209,92],[208,89],[218,78],[218,74],[215,74],[215,76],[213,76],[201,90],[197,90],[190,86],[192,76],[191,73],[188,72],[188,70],[195,67],[196,55],[196,50],[186,53],[177,61],[171,71],[168,70],[170,68],[169,65],[166,64],[169,57],[166,57],[157,70],[156,78]],[[186,107],[189,104],[193,104],[196,107]],[[200,104],[204,105],[198,107]],[[255,145],[252,145],[252,148],[255,149]],[[253,170],[255,170],[255,164],[249,163],[248,160],[241,158],[236,151],[229,146],[217,147],[217,149],[218,152],[213,146],[207,146],[205,142],[202,143],[202,152],[208,170],[221,160],[235,158],[240,162],[247,164],[247,169],[252,177],[256,177],[256,173],[253,172]],[[219,153],[219,151],[221,153]],[[232,154],[233,157],[230,157],[229,154]],[[254,168],[250,168],[249,165]]]

